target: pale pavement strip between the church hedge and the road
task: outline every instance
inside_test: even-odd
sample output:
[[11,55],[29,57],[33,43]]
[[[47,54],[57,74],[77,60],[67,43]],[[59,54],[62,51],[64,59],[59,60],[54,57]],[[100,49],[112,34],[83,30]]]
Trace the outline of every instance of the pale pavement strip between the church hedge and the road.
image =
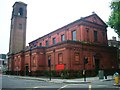
[[[6,76],[6,75],[5,75]],[[38,81],[46,81],[46,82],[54,82],[54,83],[68,83],[68,84],[83,84],[83,83],[91,83],[94,81],[110,81],[113,80],[113,76],[107,76],[107,79],[99,79],[99,77],[86,77],[86,81],[84,78],[75,78],[75,79],[61,79],[61,78],[50,78],[49,77],[30,77],[30,76],[14,76],[7,75],[8,77],[12,76],[14,78],[26,79],[26,80],[38,80]]]

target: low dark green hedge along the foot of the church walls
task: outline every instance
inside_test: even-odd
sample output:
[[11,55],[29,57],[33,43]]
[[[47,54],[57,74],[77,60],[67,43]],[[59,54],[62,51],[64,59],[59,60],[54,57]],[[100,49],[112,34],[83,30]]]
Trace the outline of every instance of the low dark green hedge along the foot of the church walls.
[[[120,74],[120,69],[118,70],[104,70],[104,73],[106,75],[113,75],[115,72],[118,72]],[[25,75],[25,71],[6,71],[5,74],[8,75]],[[28,74],[29,76],[45,76],[45,77],[49,77],[50,76],[50,72],[48,70],[44,70],[44,71],[32,71],[31,73]],[[87,77],[93,77],[93,76],[97,76],[98,73],[96,73],[95,70],[86,70],[86,76]],[[55,71],[52,70],[51,71],[51,77],[60,77],[60,78],[82,78],[83,77],[83,71],[82,70],[62,70],[62,71]]]

